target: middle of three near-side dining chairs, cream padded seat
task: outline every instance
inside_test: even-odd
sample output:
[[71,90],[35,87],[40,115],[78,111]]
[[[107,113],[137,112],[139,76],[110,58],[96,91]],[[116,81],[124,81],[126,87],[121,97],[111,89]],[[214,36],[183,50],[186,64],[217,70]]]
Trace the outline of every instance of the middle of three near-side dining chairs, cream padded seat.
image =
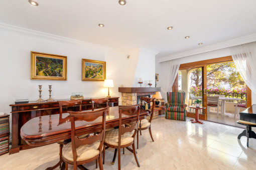
[[[121,169],[121,148],[126,148],[127,150],[134,153],[134,157],[136,160],[137,165],[140,167],[140,163],[138,161],[137,153],[135,150],[135,143],[134,138],[138,130],[138,121],[139,121],[139,114],[140,114],[140,106],[139,104],[136,105],[119,105],[119,128],[115,128],[113,130],[107,131],[104,140],[103,146],[103,164],[105,160],[105,149],[106,147],[111,147],[115,149],[114,158],[112,164],[115,160],[116,151],[118,151],[118,170]],[[135,123],[124,126],[122,125],[122,115],[124,116],[123,119],[127,116],[136,116]],[[132,145],[133,149],[129,146]]]

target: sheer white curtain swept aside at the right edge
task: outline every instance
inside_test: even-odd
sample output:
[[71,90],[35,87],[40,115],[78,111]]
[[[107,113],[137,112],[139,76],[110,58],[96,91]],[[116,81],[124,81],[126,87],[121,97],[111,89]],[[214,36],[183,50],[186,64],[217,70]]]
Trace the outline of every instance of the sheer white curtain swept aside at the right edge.
[[242,79],[256,93],[256,41],[230,47],[230,51]]

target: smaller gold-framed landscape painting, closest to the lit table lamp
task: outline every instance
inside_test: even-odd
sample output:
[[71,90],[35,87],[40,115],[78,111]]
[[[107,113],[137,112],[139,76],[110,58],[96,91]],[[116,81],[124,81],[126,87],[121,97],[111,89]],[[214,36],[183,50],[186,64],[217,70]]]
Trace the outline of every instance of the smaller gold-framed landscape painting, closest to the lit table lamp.
[[82,81],[104,81],[106,62],[82,59]]

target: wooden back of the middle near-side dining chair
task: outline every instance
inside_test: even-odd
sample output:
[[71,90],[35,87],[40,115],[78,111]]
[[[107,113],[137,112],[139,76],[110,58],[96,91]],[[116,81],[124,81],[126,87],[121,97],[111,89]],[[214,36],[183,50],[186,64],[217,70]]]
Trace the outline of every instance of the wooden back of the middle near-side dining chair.
[[[121,135],[125,132],[132,132],[134,134],[132,137],[135,137],[137,130],[138,130],[138,122],[139,122],[139,114],[140,114],[140,106],[139,104],[136,105],[119,105],[119,131],[118,131],[118,146],[121,144]],[[122,125],[122,114],[133,116],[136,115],[136,122],[130,124],[130,126],[123,126]]]

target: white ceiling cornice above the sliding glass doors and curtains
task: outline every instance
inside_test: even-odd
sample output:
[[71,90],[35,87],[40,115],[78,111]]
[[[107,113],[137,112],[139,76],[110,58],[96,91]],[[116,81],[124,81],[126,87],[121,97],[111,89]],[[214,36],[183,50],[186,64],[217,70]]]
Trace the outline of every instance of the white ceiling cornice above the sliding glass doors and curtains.
[[209,51],[213,51],[213,50],[217,50],[217,49],[223,49],[223,48],[227,48],[230,46],[240,45],[240,44],[249,43],[249,42],[253,42],[253,41],[256,41],[256,33],[247,35],[247,36],[242,36],[242,37],[235,38],[235,39],[231,39],[231,40],[227,40],[224,42],[216,43],[213,45],[200,47],[198,49],[192,49],[192,50],[188,50],[185,52],[180,52],[180,53],[176,53],[173,55],[160,57],[160,58],[157,58],[157,61],[163,62],[163,61],[167,61],[167,60],[172,60],[172,59],[195,55],[195,54],[204,53],[204,52],[209,52]]

